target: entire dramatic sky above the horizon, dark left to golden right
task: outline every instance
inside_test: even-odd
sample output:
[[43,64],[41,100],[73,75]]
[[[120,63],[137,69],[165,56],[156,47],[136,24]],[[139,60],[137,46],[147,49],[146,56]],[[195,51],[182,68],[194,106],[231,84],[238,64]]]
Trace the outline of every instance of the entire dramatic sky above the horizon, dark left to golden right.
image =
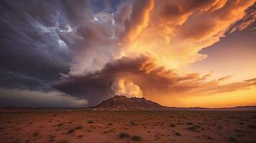
[[255,0],[0,1],[0,106],[256,105]]

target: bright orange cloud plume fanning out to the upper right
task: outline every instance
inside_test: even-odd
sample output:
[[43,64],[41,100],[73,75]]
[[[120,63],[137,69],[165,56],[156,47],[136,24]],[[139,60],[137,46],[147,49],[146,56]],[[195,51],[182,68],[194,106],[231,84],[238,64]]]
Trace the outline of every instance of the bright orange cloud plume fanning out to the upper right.
[[119,45],[121,56],[149,53],[158,64],[169,69],[201,61],[207,55],[199,51],[219,41],[232,24],[246,16],[246,9],[254,3],[254,0],[183,0],[155,1],[154,5],[142,6],[141,9],[151,12],[131,11],[130,23],[137,17],[141,21],[128,22],[125,35],[132,35],[133,41]]

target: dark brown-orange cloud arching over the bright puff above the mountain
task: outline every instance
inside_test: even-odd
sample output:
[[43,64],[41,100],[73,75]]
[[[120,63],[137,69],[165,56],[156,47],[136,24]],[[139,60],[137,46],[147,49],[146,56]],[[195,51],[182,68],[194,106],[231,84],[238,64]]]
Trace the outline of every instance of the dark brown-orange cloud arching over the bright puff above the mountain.
[[[131,80],[141,87],[145,96],[166,94],[171,92],[187,92],[200,87],[204,79],[199,74],[180,76],[174,71],[157,66],[154,59],[141,55],[124,56],[111,61],[103,69],[84,75],[62,75],[62,80],[53,87],[67,94],[87,99],[90,105],[97,104],[103,99],[115,94],[111,85],[115,79]],[[153,91],[152,91],[153,90]]]

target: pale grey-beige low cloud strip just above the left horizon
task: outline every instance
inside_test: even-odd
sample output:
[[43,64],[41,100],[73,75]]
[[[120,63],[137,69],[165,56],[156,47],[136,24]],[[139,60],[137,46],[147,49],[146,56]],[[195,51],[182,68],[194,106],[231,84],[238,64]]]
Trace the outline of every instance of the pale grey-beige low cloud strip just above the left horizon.
[[85,99],[60,92],[36,92],[0,88],[0,107],[85,107]]

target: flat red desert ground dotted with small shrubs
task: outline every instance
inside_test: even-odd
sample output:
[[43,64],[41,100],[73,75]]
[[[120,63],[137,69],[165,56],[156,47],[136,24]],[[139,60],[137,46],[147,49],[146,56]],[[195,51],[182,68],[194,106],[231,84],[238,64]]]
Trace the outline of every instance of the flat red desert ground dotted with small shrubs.
[[256,112],[0,112],[0,142],[256,142]]

